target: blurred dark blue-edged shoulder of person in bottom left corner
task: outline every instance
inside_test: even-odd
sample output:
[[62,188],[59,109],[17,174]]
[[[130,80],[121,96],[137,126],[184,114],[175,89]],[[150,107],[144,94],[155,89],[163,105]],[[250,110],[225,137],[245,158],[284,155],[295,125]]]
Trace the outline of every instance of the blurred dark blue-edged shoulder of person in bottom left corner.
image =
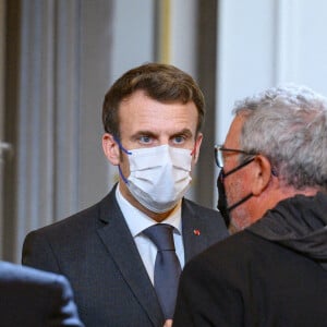
[[63,276],[0,262],[2,327],[84,326]]

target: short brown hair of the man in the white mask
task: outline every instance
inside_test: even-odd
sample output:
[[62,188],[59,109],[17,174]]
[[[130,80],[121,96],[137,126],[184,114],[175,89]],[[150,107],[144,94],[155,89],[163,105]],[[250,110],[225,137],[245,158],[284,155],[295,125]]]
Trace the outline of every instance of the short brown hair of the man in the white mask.
[[102,123],[107,133],[120,136],[119,106],[138,89],[160,102],[193,101],[198,112],[197,132],[201,131],[205,114],[204,96],[192,76],[170,64],[146,63],[124,73],[106,94]]

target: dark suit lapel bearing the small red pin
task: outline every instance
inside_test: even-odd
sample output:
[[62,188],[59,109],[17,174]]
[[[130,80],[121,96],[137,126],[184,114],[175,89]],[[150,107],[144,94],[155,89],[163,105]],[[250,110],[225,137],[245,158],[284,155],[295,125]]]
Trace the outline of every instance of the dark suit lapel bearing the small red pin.
[[182,206],[182,229],[185,263],[208,247],[208,227],[186,199]]

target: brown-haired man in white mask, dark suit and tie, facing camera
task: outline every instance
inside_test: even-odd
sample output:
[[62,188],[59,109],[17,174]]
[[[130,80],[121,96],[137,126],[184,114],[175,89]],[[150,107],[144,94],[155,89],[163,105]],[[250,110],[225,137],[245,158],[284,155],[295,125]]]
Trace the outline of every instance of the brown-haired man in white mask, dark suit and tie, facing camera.
[[[119,168],[118,185],[95,206],[26,237],[23,264],[65,275],[87,326],[168,326],[178,271],[228,235],[218,211],[183,198],[203,119],[204,98],[190,75],[156,63],[126,72],[102,110],[102,147]],[[173,243],[167,279],[156,258],[168,247],[149,237],[152,227]]]

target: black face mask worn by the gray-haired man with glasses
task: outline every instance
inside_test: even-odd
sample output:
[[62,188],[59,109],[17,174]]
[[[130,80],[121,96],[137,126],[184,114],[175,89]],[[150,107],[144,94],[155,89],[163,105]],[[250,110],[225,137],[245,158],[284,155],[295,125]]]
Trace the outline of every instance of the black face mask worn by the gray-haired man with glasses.
[[240,166],[235,167],[234,169],[232,169],[228,173],[225,173],[223,169],[221,169],[220,173],[218,175],[218,179],[217,179],[217,189],[218,189],[219,197],[218,197],[217,208],[220,211],[220,214],[221,214],[221,216],[222,216],[222,218],[223,218],[225,223],[226,223],[227,227],[229,227],[229,225],[230,225],[230,211],[233,210],[239,205],[241,205],[242,203],[244,203],[245,201],[247,201],[250,197],[252,197],[253,194],[250,193],[246,196],[244,196],[243,198],[241,198],[240,201],[238,201],[237,203],[234,203],[233,205],[228,206],[223,180],[229,174],[232,174],[233,172],[235,172],[239,169],[243,168],[244,166],[249,165],[253,160],[254,160],[254,158],[244,161],[243,164],[241,164]]

